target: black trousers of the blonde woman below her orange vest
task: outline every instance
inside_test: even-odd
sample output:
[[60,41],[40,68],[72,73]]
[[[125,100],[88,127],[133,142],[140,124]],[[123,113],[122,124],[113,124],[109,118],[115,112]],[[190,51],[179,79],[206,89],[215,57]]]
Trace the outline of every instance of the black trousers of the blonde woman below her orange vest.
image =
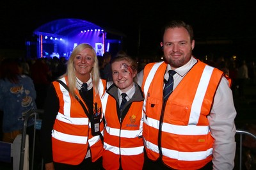
[[102,169],[102,157],[100,157],[97,161],[92,162],[92,158],[85,158],[81,164],[77,166],[69,165],[69,164],[60,164],[54,162],[54,169],[55,170],[84,170],[84,169],[95,169],[100,170]]

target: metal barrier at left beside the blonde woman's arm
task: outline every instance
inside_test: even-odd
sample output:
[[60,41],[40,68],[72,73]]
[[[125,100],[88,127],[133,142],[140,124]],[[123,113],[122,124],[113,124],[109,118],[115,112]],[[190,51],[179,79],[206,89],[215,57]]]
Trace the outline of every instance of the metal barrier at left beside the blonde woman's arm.
[[35,155],[35,134],[36,129],[40,128],[40,125],[38,125],[38,114],[43,114],[44,110],[42,109],[35,109],[32,111],[29,111],[28,114],[26,114],[24,118],[24,126],[22,131],[22,137],[21,137],[21,147],[20,147],[20,164],[19,169],[23,170],[24,165],[24,154],[25,154],[25,144],[26,144],[26,134],[27,134],[27,126],[28,126],[28,120],[31,118],[31,116],[34,116],[35,118],[35,124],[34,124],[34,135],[33,135],[33,152],[32,152],[32,161],[31,161],[31,169],[33,169],[34,166],[34,155]]

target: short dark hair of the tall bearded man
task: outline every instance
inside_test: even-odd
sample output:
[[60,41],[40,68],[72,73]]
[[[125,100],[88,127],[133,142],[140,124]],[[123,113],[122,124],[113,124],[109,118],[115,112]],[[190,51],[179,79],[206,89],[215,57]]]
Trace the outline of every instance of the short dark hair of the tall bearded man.
[[182,20],[171,20],[170,22],[167,22],[163,28],[162,28],[162,41],[163,41],[163,36],[164,36],[164,32],[166,31],[166,29],[169,28],[175,28],[175,27],[184,27],[190,36],[190,40],[192,42],[192,40],[194,39],[194,31],[193,31],[193,27],[189,24],[186,24],[184,21]]

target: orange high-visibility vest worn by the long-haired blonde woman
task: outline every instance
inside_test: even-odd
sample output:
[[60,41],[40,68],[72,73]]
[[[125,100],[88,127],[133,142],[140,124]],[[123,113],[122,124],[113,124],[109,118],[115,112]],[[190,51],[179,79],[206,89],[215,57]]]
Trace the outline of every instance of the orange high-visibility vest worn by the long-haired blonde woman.
[[[67,77],[62,78],[61,81],[67,84]],[[103,151],[100,136],[92,135],[91,123],[76,98],[70,97],[67,89],[59,82],[54,81],[52,83],[60,100],[60,109],[52,130],[52,156],[54,162],[71,165],[80,164],[84,160],[89,146],[92,162],[95,162],[102,156]],[[105,91],[105,87],[106,81],[101,80],[100,91]],[[79,95],[78,90],[76,92]],[[81,99],[80,95],[79,98]],[[96,102],[98,109],[100,109],[100,95],[96,95],[93,90],[93,103],[95,104]],[[84,105],[86,106],[86,104]],[[104,123],[102,118],[103,114],[100,118],[100,132],[103,134]]]

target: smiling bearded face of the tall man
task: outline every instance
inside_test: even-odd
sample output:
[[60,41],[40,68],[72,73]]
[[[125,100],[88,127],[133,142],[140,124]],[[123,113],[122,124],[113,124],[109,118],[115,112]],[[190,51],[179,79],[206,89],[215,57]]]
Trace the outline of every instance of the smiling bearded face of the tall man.
[[184,27],[175,27],[166,29],[161,46],[164,58],[175,69],[191,59],[195,41],[190,40],[189,33]]

